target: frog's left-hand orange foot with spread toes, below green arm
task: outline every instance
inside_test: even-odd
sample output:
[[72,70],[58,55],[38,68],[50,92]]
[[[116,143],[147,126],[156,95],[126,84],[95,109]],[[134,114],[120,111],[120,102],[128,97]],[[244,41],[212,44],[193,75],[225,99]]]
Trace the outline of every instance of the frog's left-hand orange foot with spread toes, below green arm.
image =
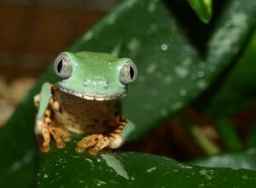
[[44,140],[43,145],[40,147],[42,152],[49,151],[50,136],[55,140],[57,148],[65,147],[65,142],[70,140],[68,132],[63,128],[53,127],[49,117],[41,121],[38,120],[36,127],[36,133],[42,135]]

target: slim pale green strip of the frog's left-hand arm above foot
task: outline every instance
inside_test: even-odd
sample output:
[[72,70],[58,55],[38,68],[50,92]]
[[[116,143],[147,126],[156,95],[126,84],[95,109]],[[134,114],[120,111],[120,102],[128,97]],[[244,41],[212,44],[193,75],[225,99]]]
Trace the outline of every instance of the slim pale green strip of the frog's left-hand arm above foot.
[[40,92],[40,105],[38,108],[37,118],[41,120],[44,117],[44,112],[49,105],[49,100],[52,98],[51,85],[49,83],[44,83]]

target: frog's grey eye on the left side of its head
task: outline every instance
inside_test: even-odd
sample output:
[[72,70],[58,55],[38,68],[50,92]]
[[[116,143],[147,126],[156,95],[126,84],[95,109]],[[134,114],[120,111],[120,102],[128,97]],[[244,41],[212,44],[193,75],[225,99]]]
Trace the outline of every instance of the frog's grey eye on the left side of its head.
[[72,75],[72,62],[67,54],[59,54],[55,60],[55,73],[62,79],[67,79]]

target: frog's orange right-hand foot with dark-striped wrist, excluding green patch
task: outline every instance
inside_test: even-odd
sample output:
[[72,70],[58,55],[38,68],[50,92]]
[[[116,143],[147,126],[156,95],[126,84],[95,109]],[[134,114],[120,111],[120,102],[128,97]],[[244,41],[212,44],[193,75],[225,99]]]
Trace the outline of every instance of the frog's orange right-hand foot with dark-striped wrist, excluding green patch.
[[125,127],[125,123],[121,123],[119,127],[116,128],[111,134],[92,134],[84,137],[83,140],[80,140],[77,143],[78,146],[76,147],[76,151],[83,152],[86,148],[94,146],[89,152],[91,155],[96,155],[99,151],[106,147],[111,149],[119,148],[124,143],[120,133]]

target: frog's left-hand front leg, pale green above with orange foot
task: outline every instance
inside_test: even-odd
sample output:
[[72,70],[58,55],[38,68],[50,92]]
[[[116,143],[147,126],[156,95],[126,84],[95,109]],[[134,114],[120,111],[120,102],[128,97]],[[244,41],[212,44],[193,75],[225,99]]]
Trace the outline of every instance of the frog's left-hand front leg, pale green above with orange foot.
[[70,140],[67,131],[60,128],[52,119],[54,111],[59,111],[60,108],[58,101],[52,98],[54,89],[53,85],[44,83],[41,93],[34,98],[35,105],[38,106],[35,133],[38,137],[43,137],[43,145],[40,147],[43,152],[49,151],[51,136],[58,148],[65,147],[64,141]]

